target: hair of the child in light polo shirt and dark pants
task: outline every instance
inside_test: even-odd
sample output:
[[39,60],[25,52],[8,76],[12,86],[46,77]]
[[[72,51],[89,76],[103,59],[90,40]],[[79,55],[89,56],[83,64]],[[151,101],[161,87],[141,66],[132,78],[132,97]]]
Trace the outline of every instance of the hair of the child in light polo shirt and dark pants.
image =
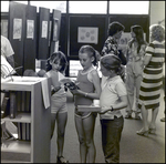
[[105,54],[104,57],[101,58],[101,64],[106,69],[106,70],[115,70],[117,74],[121,74],[121,59],[113,54]]

